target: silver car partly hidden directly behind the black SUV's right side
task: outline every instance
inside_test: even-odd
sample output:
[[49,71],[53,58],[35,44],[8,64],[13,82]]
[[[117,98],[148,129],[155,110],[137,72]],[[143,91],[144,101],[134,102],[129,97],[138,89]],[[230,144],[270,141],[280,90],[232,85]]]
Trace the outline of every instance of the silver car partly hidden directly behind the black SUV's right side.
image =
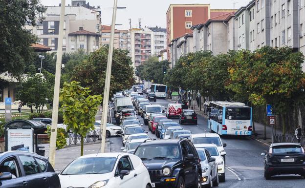
[[205,148],[196,148],[200,158],[200,165],[202,169],[201,185],[207,188],[218,186],[218,166],[215,158],[211,157],[208,150]]

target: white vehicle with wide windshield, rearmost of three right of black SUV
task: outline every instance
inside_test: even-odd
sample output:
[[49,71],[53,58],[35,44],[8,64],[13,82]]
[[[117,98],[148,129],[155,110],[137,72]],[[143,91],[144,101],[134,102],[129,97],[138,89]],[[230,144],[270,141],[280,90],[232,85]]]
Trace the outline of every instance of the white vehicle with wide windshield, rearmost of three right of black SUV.
[[220,136],[217,133],[200,133],[200,134],[192,134],[192,143],[195,144],[215,144],[217,146],[218,152],[223,157],[225,162],[225,155],[227,154],[224,151],[223,147],[226,147],[226,143],[222,143]]

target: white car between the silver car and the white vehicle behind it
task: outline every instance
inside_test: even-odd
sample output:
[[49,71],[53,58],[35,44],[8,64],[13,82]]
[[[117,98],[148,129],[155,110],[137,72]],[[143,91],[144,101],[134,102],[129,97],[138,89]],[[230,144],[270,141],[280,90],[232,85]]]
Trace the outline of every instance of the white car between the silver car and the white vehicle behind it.
[[224,182],[225,181],[225,164],[223,161],[222,156],[219,154],[217,146],[215,144],[194,144],[194,146],[197,148],[205,148],[209,151],[210,155],[216,159],[216,164],[218,166],[218,176],[219,181]]

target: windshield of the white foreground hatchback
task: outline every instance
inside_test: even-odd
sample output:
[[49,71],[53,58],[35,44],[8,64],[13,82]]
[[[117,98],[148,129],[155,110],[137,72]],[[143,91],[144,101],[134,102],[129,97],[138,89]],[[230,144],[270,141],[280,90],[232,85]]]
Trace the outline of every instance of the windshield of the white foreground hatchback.
[[113,170],[115,157],[79,158],[70,163],[62,175],[105,174]]

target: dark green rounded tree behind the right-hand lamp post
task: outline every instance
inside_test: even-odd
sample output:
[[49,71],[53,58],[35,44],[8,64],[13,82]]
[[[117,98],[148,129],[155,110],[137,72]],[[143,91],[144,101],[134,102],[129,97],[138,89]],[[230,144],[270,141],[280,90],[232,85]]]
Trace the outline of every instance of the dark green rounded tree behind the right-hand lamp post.
[[[106,77],[108,46],[86,56],[85,60],[76,66],[71,80],[78,81],[83,87],[89,87],[93,94],[103,94]],[[110,96],[117,91],[128,89],[134,82],[131,58],[127,50],[114,49],[110,81]]]

